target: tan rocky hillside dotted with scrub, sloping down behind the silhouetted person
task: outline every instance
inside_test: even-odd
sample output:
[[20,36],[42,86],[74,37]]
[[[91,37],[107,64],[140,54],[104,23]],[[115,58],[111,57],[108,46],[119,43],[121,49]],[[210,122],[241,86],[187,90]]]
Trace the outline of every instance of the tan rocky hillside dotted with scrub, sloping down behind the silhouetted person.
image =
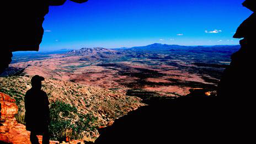
[[[24,95],[31,88],[31,77],[0,77],[0,92],[16,100],[18,114],[15,118],[25,124]],[[124,90],[89,87],[68,81],[45,78],[42,82],[50,101],[52,140],[68,135],[79,139],[99,136],[98,126],[119,118],[143,105],[141,99],[127,97]],[[72,131],[70,131],[72,130]]]

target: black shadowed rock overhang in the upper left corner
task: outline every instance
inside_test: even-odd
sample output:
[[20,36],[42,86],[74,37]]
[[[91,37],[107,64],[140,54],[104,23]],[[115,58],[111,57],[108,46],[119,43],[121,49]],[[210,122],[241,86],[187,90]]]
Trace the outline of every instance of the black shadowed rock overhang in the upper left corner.
[[[70,0],[76,3],[88,0]],[[39,51],[44,29],[42,23],[49,6],[61,6],[66,0],[4,1],[2,12],[4,42],[0,56],[0,74],[8,68],[14,51]]]

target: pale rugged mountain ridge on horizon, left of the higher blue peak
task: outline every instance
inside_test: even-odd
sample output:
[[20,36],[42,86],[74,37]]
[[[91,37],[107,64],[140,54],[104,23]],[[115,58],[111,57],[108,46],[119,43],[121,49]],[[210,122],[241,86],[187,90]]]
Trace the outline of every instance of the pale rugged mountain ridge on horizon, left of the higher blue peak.
[[66,55],[72,56],[92,56],[97,54],[116,54],[117,51],[111,49],[105,49],[103,47],[94,48],[82,48],[80,50],[68,51]]

